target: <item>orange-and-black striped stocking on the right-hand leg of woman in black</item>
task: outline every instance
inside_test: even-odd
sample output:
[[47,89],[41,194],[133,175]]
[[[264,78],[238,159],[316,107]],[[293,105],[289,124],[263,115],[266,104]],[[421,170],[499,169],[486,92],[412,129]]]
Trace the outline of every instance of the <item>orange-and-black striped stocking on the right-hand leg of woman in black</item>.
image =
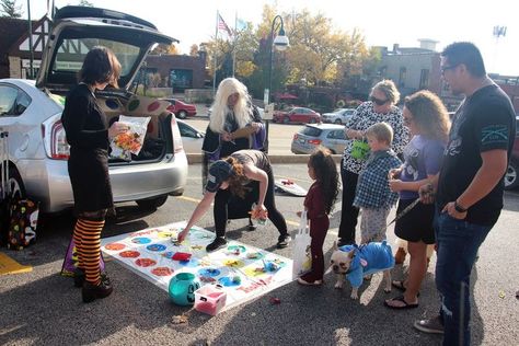
[[92,285],[101,282],[100,261],[101,261],[101,231],[104,220],[82,220],[84,224],[81,241],[81,253],[84,262],[86,281]]

